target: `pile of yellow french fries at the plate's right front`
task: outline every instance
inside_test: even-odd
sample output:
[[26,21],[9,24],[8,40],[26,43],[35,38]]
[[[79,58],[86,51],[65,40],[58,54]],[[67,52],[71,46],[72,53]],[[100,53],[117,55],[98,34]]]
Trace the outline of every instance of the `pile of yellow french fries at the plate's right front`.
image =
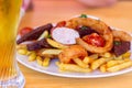
[[86,56],[82,61],[74,58],[75,64],[63,64],[59,62],[56,64],[62,72],[89,73],[99,69],[101,73],[114,73],[132,66],[130,55],[130,52],[120,57],[116,57],[111,53],[92,54]]

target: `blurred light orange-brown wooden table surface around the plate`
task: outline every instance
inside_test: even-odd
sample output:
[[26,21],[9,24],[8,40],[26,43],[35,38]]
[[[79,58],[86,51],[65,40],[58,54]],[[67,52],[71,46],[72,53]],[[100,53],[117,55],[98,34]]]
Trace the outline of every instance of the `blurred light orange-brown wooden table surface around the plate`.
[[[38,26],[87,13],[99,16],[107,24],[132,32],[132,1],[119,1],[107,8],[88,8],[76,0],[33,0],[33,10],[25,13],[20,29]],[[24,74],[24,88],[132,88],[132,73],[114,77],[76,79],[37,73],[19,64]]]

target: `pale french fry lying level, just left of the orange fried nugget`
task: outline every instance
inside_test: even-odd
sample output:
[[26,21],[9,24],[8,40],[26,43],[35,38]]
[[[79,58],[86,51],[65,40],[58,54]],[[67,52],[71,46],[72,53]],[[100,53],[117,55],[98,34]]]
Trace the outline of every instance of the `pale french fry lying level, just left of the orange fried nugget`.
[[44,50],[44,51],[42,52],[42,54],[43,54],[43,55],[58,55],[61,52],[62,52],[62,50],[51,48],[51,50]]

